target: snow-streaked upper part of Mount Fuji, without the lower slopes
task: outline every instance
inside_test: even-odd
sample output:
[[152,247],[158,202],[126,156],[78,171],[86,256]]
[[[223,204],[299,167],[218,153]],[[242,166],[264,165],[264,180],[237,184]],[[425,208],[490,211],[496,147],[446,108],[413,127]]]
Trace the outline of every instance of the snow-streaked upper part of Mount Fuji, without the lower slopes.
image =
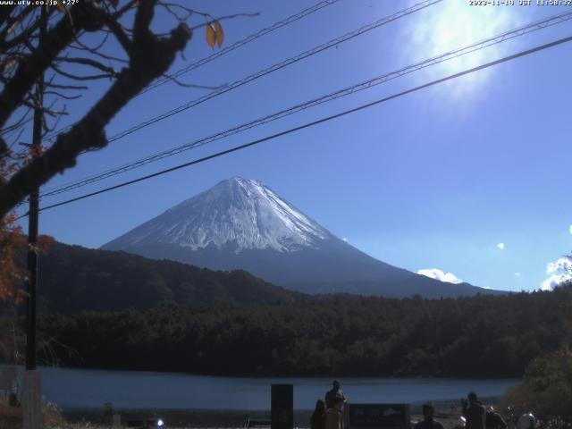
[[191,250],[215,247],[319,248],[332,234],[260,181],[233,177],[183,201],[105,245],[130,248],[156,244]]

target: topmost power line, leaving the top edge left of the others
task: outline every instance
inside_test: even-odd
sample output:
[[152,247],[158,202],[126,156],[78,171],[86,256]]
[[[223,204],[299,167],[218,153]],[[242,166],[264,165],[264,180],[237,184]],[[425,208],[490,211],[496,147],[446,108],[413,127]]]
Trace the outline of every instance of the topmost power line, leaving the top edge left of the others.
[[[252,33],[252,34],[248,35],[246,38],[243,38],[237,42],[234,42],[230,46],[223,47],[223,49],[221,49],[220,51],[216,51],[214,54],[207,55],[206,57],[201,58],[197,62],[189,64],[188,66],[183,67],[182,69],[180,69],[178,71],[175,71],[174,73],[169,75],[169,77],[164,77],[162,79],[156,80],[156,82],[148,85],[147,88],[143,89],[135,97],[139,97],[140,95],[146,93],[147,91],[150,91],[151,89],[154,89],[154,88],[157,88],[161,85],[164,85],[164,83],[171,81],[173,78],[176,79],[176,78],[182,76],[183,74],[188,73],[189,71],[193,71],[195,69],[198,69],[198,67],[201,67],[207,63],[210,63],[211,61],[214,61],[216,58],[219,58],[223,55],[227,55],[230,52],[234,51],[235,49],[238,49],[241,46],[248,45],[248,43],[256,40],[257,38],[262,38],[265,35],[272,33],[276,29],[282,29],[282,27],[285,27],[285,26],[287,26],[287,25],[289,25],[295,21],[299,21],[302,18],[307,17],[307,15],[318,12],[318,11],[324,9],[324,7],[331,6],[332,4],[338,3],[339,1],[340,0],[324,0],[324,1],[321,1],[317,4],[314,4],[311,7],[308,7],[307,9],[304,9],[303,11],[301,11],[299,13],[294,13],[293,15],[290,15],[288,18],[285,18],[282,21],[276,21],[270,27],[266,27],[265,29],[260,29],[256,33]],[[49,134],[46,137],[46,139],[54,139],[55,136],[57,136],[61,132],[65,131],[65,130],[70,130],[72,126],[73,126],[73,124],[68,125],[66,127],[63,127],[60,130],[56,130],[56,131],[52,132],[51,134]]]

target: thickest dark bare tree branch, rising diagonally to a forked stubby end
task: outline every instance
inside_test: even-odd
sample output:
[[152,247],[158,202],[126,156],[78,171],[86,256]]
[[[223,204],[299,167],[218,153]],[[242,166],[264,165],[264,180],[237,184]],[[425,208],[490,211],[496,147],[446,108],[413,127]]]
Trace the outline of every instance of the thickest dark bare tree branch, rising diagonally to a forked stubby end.
[[[46,183],[58,172],[71,168],[81,152],[105,147],[105,126],[139,92],[172,64],[177,52],[189,41],[190,29],[180,24],[171,37],[157,38],[149,29],[156,0],[141,0],[135,15],[129,66],[71,130],[58,136],[55,144],[0,185],[0,217],[22,201],[32,189]],[[55,57],[55,55],[54,55]]]

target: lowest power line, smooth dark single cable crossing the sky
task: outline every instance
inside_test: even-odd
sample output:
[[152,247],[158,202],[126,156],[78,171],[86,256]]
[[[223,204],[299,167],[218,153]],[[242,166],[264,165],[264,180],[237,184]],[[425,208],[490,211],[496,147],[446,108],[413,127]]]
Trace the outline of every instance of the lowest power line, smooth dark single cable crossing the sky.
[[[96,196],[96,195],[103,194],[103,193],[105,193],[105,192],[109,192],[109,191],[114,190],[114,189],[120,189],[120,188],[123,188],[123,187],[125,187],[125,186],[129,186],[129,185],[132,185],[132,184],[134,184],[134,183],[138,183],[139,181],[147,181],[148,179],[151,179],[151,178],[154,178],[154,177],[157,177],[157,176],[166,174],[166,173],[168,173],[168,172],[174,172],[174,171],[176,171],[176,170],[180,170],[181,168],[189,167],[189,166],[195,165],[195,164],[200,164],[200,163],[203,163],[203,162],[205,162],[205,161],[208,161],[208,160],[217,158],[217,157],[219,157],[219,156],[228,155],[228,154],[231,154],[231,153],[233,153],[233,152],[237,152],[237,151],[239,151],[239,150],[245,149],[245,148],[247,148],[247,147],[252,147],[252,146],[258,145],[258,144],[263,143],[263,142],[268,141],[268,140],[278,139],[279,137],[285,136],[285,135],[287,135],[287,134],[291,134],[291,133],[296,132],[296,131],[299,131],[299,130],[305,130],[305,129],[307,129],[307,128],[313,127],[313,126],[318,125],[318,124],[320,124],[320,123],[329,122],[329,121],[332,121],[332,120],[334,120],[334,119],[337,119],[337,118],[340,118],[340,117],[342,117],[342,116],[345,116],[345,115],[347,115],[347,114],[353,114],[353,113],[359,112],[359,111],[361,111],[361,110],[365,110],[366,108],[372,107],[372,106],[374,106],[374,105],[380,105],[380,104],[385,103],[385,102],[387,102],[387,101],[390,101],[390,100],[392,100],[392,99],[394,99],[394,98],[403,97],[403,96],[406,96],[406,95],[411,94],[411,93],[413,93],[413,92],[419,91],[419,90],[421,90],[421,89],[433,87],[434,85],[437,85],[437,84],[439,84],[439,83],[445,82],[445,81],[447,81],[447,80],[457,79],[457,78],[459,78],[459,77],[461,77],[461,76],[465,76],[465,75],[470,74],[470,73],[473,73],[473,72],[475,72],[475,71],[484,70],[484,69],[486,69],[486,68],[492,67],[492,66],[494,66],[494,65],[498,65],[498,64],[500,64],[500,63],[507,63],[507,62],[509,62],[509,61],[511,61],[511,60],[514,60],[514,59],[516,59],[516,58],[520,58],[520,57],[526,56],[526,55],[531,55],[531,54],[534,54],[534,53],[536,53],[536,52],[542,51],[542,50],[544,50],[544,49],[548,49],[548,48],[553,47],[553,46],[558,46],[558,45],[567,43],[567,42],[569,42],[569,41],[572,41],[572,36],[568,36],[568,38],[559,38],[558,40],[555,40],[555,41],[553,41],[553,42],[550,42],[550,43],[547,43],[547,44],[544,44],[544,45],[541,45],[541,46],[535,46],[535,47],[533,47],[533,48],[526,49],[525,51],[520,51],[520,52],[518,52],[517,54],[513,54],[513,55],[509,55],[509,56],[502,57],[502,58],[500,58],[500,59],[498,59],[498,60],[495,60],[495,61],[492,61],[492,62],[490,62],[490,63],[484,63],[484,64],[478,65],[478,66],[476,66],[476,67],[473,67],[473,68],[471,68],[471,69],[467,69],[467,70],[465,70],[465,71],[459,71],[459,72],[457,72],[457,73],[450,74],[449,76],[446,76],[446,77],[444,77],[444,78],[442,78],[442,79],[432,80],[431,82],[425,83],[425,84],[423,84],[423,85],[419,85],[419,86],[417,86],[417,87],[415,87],[415,88],[409,88],[409,89],[407,89],[407,90],[405,90],[405,91],[401,91],[401,92],[399,92],[399,93],[397,93],[397,94],[393,94],[393,95],[391,95],[391,96],[389,96],[389,97],[383,97],[383,98],[380,98],[380,99],[378,99],[378,100],[375,100],[375,101],[373,101],[373,102],[371,102],[371,103],[367,103],[367,104],[365,104],[365,105],[359,105],[359,106],[354,107],[354,108],[352,108],[352,109],[343,111],[343,112],[341,112],[341,113],[339,113],[339,114],[332,114],[332,115],[330,115],[330,116],[326,116],[326,117],[321,118],[321,119],[318,119],[318,120],[316,120],[316,121],[307,122],[307,123],[305,123],[305,124],[303,124],[303,125],[299,125],[298,127],[290,128],[289,130],[283,130],[283,131],[278,132],[278,133],[276,133],[276,134],[272,134],[272,135],[270,135],[270,136],[266,136],[265,138],[262,138],[262,139],[257,139],[257,140],[251,141],[251,142],[249,142],[249,143],[245,143],[245,144],[240,145],[240,146],[237,146],[237,147],[231,147],[230,149],[226,149],[226,150],[223,150],[223,151],[221,151],[221,152],[217,152],[217,153],[215,153],[215,154],[213,154],[213,155],[210,155],[210,156],[204,156],[204,157],[202,157],[202,158],[199,158],[199,159],[190,161],[190,162],[188,162],[188,163],[179,164],[179,165],[176,165],[176,166],[174,166],[174,167],[171,167],[171,168],[162,170],[162,171],[160,171],[160,172],[154,172],[154,173],[152,173],[152,174],[147,174],[147,175],[145,175],[145,176],[139,177],[138,179],[133,179],[133,180],[131,180],[131,181],[124,181],[124,182],[122,182],[122,183],[120,183],[120,184],[118,184],[118,185],[114,185],[114,186],[111,186],[111,187],[108,187],[108,188],[105,188],[105,189],[100,189],[100,190],[97,190],[97,191],[95,191],[95,192],[90,192],[90,193],[85,194],[85,195],[82,195],[82,196],[80,196],[80,197],[71,198],[71,199],[62,201],[62,202],[60,202],[60,203],[53,204],[53,205],[51,205],[51,206],[45,206],[45,207],[40,208],[40,211],[45,211],[45,210],[48,210],[48,209],[51,209],[51,208],[55,208],[55,207],[59,207],[59,206],[64,206],[64,205],[67,205],[67,204],[71,204],[72,202],[79,201],[80,199],[85,199],[85,198],[94,197],[94,196]],[[21,215],[21,216],[19,217],[19,219],[22,218],[22,217],[25,217],[25,216],[27,216],[27,215],[28,215],[28,214],[23,214],[23,215]]]

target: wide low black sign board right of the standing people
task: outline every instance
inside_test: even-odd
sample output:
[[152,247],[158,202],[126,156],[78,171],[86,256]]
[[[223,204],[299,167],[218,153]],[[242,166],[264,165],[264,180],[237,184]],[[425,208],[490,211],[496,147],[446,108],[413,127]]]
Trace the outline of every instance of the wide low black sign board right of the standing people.
[[409,428],[408,404],[349,404],[349,427],[398,429]]

